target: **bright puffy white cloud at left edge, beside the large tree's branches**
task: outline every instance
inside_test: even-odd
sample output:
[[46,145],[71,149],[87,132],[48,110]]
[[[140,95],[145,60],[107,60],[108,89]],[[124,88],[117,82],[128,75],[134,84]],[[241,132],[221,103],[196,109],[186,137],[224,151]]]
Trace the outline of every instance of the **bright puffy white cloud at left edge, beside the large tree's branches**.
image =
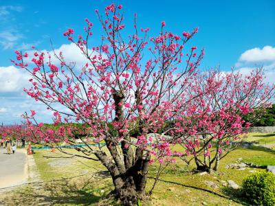
[[23,91],[28,85],[28,73],[14,66],[0,67],[0,94]]

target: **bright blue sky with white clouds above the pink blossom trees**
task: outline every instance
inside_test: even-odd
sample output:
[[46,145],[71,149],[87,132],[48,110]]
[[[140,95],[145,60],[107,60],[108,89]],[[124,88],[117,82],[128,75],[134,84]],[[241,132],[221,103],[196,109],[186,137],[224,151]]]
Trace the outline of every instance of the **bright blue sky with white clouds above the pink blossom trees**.
[[[0,1],[0,122],[18,122],[19,114],[34,103],[21,92],[26,80],[23,71],[10,67],[14,50],[29,50],[31,45],[50,49],[50,39],[55,48],[68,44],[63,32],[68,27],[82,32],[86,17],[95,24],[92,42],[96,44],[100,26],[94,10],[103,11],[111,2]],[[236,65],[246,72],[264,65],[267,76],[275,77],[275,1],[114,2],[123,5],[126,27],[132,26],[136,12],[137,25],[150,27],[152,36],[158,34],[161,21],[166,21],[167,30],[178,34],[199,27],[192,45],[206,49],[203,69],[219,64],[226,71]]]

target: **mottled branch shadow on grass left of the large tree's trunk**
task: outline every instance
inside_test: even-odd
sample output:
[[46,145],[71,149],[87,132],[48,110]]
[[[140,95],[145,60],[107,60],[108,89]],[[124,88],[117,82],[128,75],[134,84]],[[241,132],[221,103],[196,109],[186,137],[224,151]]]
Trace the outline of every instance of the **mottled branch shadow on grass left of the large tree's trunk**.
[[4,205],[99,205],[111,189],[108,179],[81,176],[28,185],[9,192],[5,201],[0,202]]

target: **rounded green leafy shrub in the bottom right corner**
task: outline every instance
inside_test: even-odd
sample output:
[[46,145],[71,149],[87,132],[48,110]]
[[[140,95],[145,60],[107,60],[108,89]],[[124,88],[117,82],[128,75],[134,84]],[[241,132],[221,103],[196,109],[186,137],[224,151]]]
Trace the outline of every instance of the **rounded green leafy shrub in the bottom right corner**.
[[275,205],[275,175],[257,172],[243,181],[243,194],[254,205]]

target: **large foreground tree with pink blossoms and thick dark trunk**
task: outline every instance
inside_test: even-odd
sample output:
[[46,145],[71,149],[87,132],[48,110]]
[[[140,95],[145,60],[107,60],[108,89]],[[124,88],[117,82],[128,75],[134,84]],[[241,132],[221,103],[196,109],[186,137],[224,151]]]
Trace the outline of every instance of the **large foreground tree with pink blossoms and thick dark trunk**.
[[[164,30],[165,22],[159,35],[148,38],[149,29],[137,30],[134,21],[134,34],[125,36],[121,9],[122,5],[112,3],[104,16],[96,10],[104,33],[98,46],[89,45],[93,23],[88,19],[85,36],[74,36],[73,29],[64,33],[86,58],[83,67],[66,62],[62,53],[50,56],[39,51],[17,51],[14,64],[30,73],[32,87],[25,92],[54,112],[58,126],[43,126],[34,118],[36,111],[31,111],[24,115],[30,140],[76,145],[80,130],[72,123],[79,122],[82,135],[78,138],[85,146],[74,147],[78,156],[100,161],[111,174],[118,198],[124,205],[135,205],[144,196],[149,163],[175,161],[170,150],[173,142],[148,133],[185,113],[197,98],[188,92],[196,84],[203,52],[197,54],[197,47],[184,52],[197,29],[178,36]],[[30,57],[28,65],[25,61]],[[58,149],[71,154],[69,149]]]

